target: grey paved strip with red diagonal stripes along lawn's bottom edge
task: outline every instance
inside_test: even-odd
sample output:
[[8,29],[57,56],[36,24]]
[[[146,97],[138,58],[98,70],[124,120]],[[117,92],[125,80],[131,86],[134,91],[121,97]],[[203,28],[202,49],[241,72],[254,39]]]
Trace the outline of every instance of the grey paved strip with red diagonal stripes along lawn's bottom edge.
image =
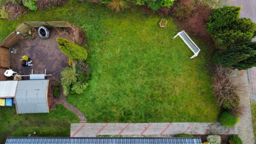
[[74,123],[70,137],[97,135],[237,134],[237,127],[220,123]]

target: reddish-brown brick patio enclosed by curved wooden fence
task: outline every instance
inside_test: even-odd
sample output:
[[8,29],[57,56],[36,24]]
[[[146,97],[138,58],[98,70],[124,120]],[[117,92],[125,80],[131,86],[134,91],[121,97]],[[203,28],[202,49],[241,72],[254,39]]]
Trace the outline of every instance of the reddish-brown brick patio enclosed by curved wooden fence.
[[[50,38],[42,39],[37,36],[34,39],[20,39],[17,44],[14,45],[14,49],[17,50],[16,54],[10,54],[10,67],[20,72],[21,75],[31,74],[33,69],[34,74],[52,74],[47,76],[47,79],[59,81],[60,71],[68,66],[68,57],[59,50],[56,38],[63,37],[65,35],[58,35],[55,31],[51,31]],[[32,59],[33,66],[22,67],[20,57],[27,55]],[[23,77],[28,79],[29,77]]]

